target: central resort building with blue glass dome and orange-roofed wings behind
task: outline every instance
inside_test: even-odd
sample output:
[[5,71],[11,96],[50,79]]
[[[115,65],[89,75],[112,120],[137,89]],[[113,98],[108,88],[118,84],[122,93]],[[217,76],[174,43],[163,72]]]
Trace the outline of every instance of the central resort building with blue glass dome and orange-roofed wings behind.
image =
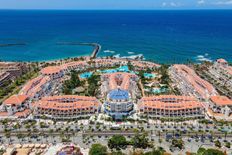
[[138,76],[131,73],[109,73],[101,76],[101,90],[106,96],[104,112],[115,119],[131,115],[134,110],[133,101],[138,95]]

